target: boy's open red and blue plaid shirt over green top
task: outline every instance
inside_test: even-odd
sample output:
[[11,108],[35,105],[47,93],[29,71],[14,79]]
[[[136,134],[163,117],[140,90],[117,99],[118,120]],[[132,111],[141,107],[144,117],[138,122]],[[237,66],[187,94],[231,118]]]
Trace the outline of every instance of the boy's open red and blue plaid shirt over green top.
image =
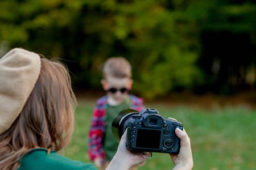
[[[141,111],[144,109],[143,99],[134,95],[129,95],[131,99],[130,109]],[[102,146],[102,140],[106,127],[106,109],[108,107],[108,96],[103,96],[97,100],[97,104],[93,109],[93,117],[89,131],[89,151],[90,160],[101,158],[105,160],[106,155]]]

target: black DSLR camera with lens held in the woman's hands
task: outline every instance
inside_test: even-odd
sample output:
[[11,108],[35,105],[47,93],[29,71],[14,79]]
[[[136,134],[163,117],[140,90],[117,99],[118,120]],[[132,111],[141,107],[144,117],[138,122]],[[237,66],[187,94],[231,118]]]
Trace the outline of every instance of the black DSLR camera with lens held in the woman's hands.
[[172,118],[163,118],[156,109],[141,112],[126,109],[112,123],[112,133],[119,142],[127,129],[126,147],[130,151],[179,154],[180,138],[175,129],[183,125]]

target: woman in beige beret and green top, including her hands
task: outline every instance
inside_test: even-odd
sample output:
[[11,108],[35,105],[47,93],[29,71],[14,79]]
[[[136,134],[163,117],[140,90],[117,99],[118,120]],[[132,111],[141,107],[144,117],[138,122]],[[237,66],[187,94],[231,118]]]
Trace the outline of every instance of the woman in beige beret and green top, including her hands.
[[[71,141],[76,98],[65,66],[24,49],[0,59],[0,169],[96,169],[56,154]],[[184,131],[176,168],[193,161]],[[142,153],[126,149],[123,135],[107,169],[129,169],[146,161]]]

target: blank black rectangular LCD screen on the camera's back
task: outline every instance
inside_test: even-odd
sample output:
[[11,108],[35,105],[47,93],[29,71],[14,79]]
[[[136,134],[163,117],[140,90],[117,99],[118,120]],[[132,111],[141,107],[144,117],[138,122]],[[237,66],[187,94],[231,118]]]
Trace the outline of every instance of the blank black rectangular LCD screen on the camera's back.
[[160,137],[161,130],[138,129],[136,147],[159,149]]

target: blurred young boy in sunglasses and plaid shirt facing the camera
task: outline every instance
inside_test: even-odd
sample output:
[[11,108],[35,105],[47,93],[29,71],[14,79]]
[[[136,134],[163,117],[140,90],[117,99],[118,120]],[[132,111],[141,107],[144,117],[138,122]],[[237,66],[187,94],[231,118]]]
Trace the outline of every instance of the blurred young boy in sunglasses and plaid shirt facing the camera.
[[[123,109],[144,109],[143,99],[129,95],[133,80],[131,65],[122,57],[109,58],[103,69],[101,84],[106,96],[97,100],[89,131],[89,159],[105,169],[117,151],[118,142],[112,134],[112,121]],[[137,169],[137,168],[136,168]]]

